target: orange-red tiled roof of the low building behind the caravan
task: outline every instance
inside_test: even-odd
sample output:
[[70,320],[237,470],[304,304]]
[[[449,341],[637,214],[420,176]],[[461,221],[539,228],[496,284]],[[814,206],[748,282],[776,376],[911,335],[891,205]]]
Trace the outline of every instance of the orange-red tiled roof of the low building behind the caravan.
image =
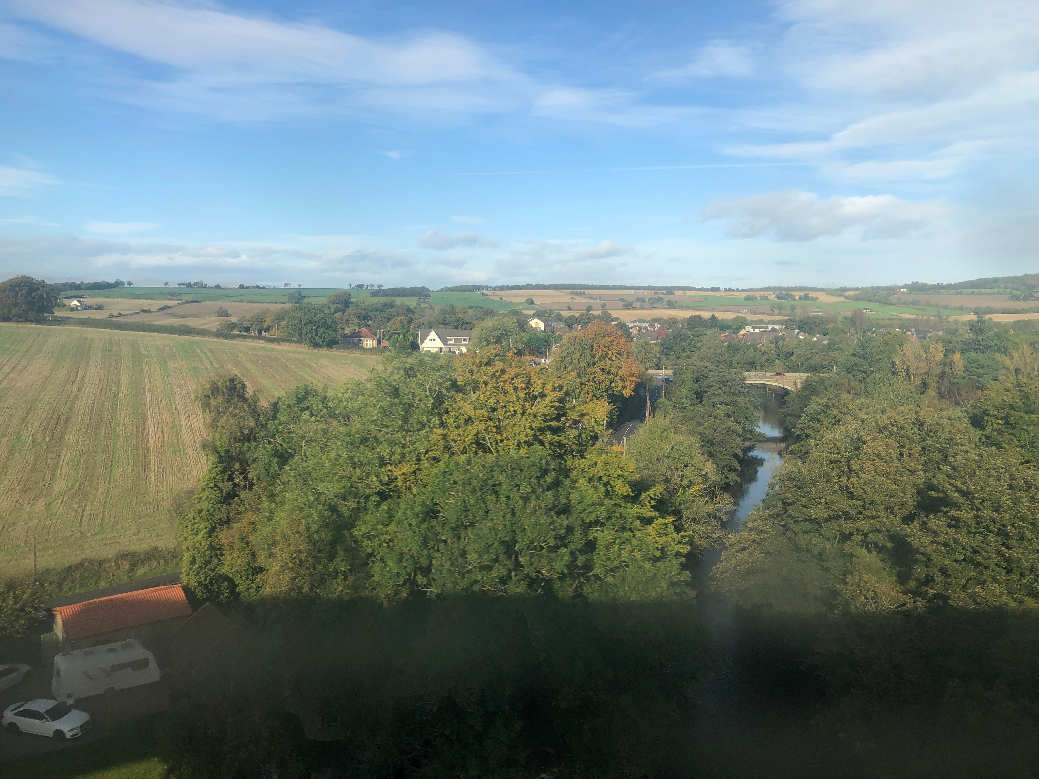
[[191,607],[180,585],[109,595],[54,610],[65,639],[96,636],[123,627],[134,627],[162,619],[186,617]]

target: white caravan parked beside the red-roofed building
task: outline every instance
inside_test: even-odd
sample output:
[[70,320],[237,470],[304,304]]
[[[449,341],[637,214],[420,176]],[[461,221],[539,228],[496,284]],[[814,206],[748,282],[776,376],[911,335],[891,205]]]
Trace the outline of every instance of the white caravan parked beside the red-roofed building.
[[61,652],[54,657],[55,700],[113,693],[162,677],[155,655],[136,639]]

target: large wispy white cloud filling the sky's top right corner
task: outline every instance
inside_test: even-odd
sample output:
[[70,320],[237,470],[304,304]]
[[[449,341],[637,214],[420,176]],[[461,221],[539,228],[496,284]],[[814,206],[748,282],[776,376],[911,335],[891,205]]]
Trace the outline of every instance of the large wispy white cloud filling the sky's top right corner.
[[743,120],[800,138],[729,153],[854,182],[935,181],[1039,150],[1039,4],[788,0],[778,18],[774,64],[803,97]]

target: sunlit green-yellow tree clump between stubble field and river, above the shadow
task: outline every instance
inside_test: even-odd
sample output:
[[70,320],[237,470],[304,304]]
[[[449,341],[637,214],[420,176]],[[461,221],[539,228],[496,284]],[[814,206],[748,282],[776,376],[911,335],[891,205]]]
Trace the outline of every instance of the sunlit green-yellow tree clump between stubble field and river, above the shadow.
[[237,378],[203,397],[215,459],[181,535],[207,596],[688,594],[688,517],[593,446],[606,401],[571,402],[559,374],[502,347],[388,355],[368,380],[269,409]]

